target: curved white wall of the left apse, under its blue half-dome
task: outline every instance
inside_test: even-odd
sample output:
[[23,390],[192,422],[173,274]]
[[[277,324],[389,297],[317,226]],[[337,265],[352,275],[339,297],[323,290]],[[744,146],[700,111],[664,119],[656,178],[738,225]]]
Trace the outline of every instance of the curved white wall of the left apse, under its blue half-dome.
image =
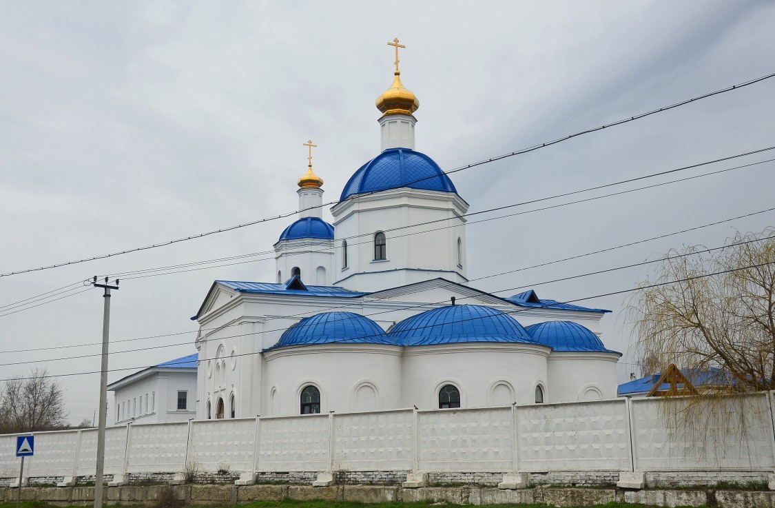
[[[320,411],[356,410],[357,391],[374,390],[374,409],[401,407],[401,347],[382,344],[319,344],[265,354],[267,396],[274,390],[280,415],[299,413],[301,390],[320,390]],[[273,414],[267,404],[262,414]]]

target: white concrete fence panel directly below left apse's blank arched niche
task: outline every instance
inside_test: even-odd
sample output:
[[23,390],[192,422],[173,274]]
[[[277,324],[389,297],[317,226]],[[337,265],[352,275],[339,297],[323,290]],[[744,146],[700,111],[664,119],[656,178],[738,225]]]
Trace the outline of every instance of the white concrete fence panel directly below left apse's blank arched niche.
[[413,410],[334,415],[333,469],[401,471],[415,461]]

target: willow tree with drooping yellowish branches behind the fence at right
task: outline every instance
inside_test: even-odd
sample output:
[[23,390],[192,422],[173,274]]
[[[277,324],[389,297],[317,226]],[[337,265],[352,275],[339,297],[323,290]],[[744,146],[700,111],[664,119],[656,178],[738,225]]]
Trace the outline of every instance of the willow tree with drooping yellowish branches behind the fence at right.
[[704,394],[775,389],[775,229],[670,251],[655,272],[629,302],[639,358]]

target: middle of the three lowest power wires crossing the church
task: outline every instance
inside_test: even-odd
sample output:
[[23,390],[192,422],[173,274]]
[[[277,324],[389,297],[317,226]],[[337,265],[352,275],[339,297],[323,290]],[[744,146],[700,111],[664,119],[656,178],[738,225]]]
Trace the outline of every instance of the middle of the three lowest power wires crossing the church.
[[[611,272],[611,271],[624,270],[626,268],[635,268],[635,267],[639,267],[639,266],[644,266],[646,264],[658,263],[660,261],[670,261],[670,260],[673,260],[673,259],[680,259],[681,257],[696,256],[698,254],[703,254],[703,253],[707,253],[707,252],[720,251],[720,250],[723,250],[723,249],[727,249],[729,247],[736,247],[738,245],[753,244],[755,242],[760,242],[760,241],[763,241],[763,240],[770,240],[770,239],[773,239],[773,238],[775,238],[775,235],[770,236],[770,237],[756,238],[754,240],[746,240],[746,241],[738,242],[736,244],[725,244],[725,245],[722,245],[720,247],[706,248],[706,249],[703,249],[701,251],[689,252],[689,253],[686,253],[686,254],[676,254],[674,256],[662,257],[660,259],[656,259],[656,260],[652,260],[652,261],[642,261],[642,262],[639,262],[639,263],[626,264],[624,266],[619,266],[619,267],[615,267],[615,268],[605,268],[603,270],[591,271],[591,272],[587,272],[587,273],[584,273],[584,274],[570,275],[568,277],[556,278],[556,279],[549,280],[549,281],[536,282],[536,283],[533,283],[533,284],[518,286],[517,288],[503,289],[503,290],[495,291],[494,293],[505,292],[505,291],[513,291],[515,289],[522,289],[522,288],[533,287],[533,286],[537,286],[537,285],[552,284],[554,282],[563,282],[563,281],[573,280],[575,278],[588,277],[590,275],[600,275],[600,274],[608,273],[608,272]],[[469,297],[461,297],[460,299],[466,299],[466,298],[469,298]],[[473,296],[470,297],[470,298],[473,298]],[[446,302],[446,300],[443,300],[441,302],[424,302],[424,303],[418,304],[416,306],[404,307],[401,310],[416,309],[418,307],[439,305],[440,303],[444,303],[444,302]],[[370,317],[370,316],[377,316],[378,314],[391,313],[391,312],[394,312],[394,309],[383,310],[383,311],[380,311],[380,312],[377,312],[377,313],[364,313],[364,314],[362,314],[362,316]],[[291,316],[281,316],[281,317],[288,318],[288,317],[291,317]],[[275,318],[275,319],[278,319],[278,318]],[[341,318],[339,320],[331,320],[331,322],[346,321],[346,320],[351,320],[351,319],[353,319],[353,318],[345,317],[345,318]],[[283,331],[283,330],[286,330],[286,328],[283,327],[283,328],[277,328],[277,329],[274,329],[274,330],[263,330],[263,333],[277,332],[277,331]],[[203,341],[232,339],[232,338],[236,338],[236,337],[244,337],[245,335],[250,335],[250,334],[252,334],[252,333],[239,333],[237,335],[232,335],[232,336],[227,336],[227,337],[218,337],[217,339],[205,339]],[[367,337],[371,337],[371,336],[367,336]],[[364,337],[359,337],[359,338],[364,338]],[[112,354],[135,353],[135,352],[138,352],[138,351],[151,351],[151,350],[154,350],[154,349],[163,349],[164,347],[177,347],[177,346],[184,346],[184,345],[187,345],[187,344],[191,344],[191,343],[190,342],[185,342],[185,343],[164,344],[164,345],[150,346],[150,347],[138,347],[138,348],[135,348],[135,349],[128,349],[128,350],[123,350],[123,351],[115,351]],[[95,356],[101,356],[101,354],[79,354],[77,356],[72,356],[72,357],[50,358],[50,359],[47,359],[47,360],[36,359],[36,360],[29,360],[29,361],[13,361],[13,362],[9,362],[9,363],[0,363],[0,366],[5,366],[5,365],[24,365],[24,364],[30,364],[30,363],[39,363],[41,361],[76,360],[78,358],[89,358],[89,357],[95,357]]]

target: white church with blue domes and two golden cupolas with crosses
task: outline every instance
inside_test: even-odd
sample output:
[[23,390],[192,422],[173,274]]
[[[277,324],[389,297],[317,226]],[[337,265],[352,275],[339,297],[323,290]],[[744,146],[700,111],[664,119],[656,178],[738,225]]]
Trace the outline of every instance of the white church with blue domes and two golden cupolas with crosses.
[[[298,180],[274,282],[215,281],[200,331],[197,419],[612,399],[609,311],[501,298],[468,284],[468,202],[415,149],[418,98],[377,98],[381,150],[353,172],[332,223],[323,180]],[[273,276],[274,277],[274,276]]]

